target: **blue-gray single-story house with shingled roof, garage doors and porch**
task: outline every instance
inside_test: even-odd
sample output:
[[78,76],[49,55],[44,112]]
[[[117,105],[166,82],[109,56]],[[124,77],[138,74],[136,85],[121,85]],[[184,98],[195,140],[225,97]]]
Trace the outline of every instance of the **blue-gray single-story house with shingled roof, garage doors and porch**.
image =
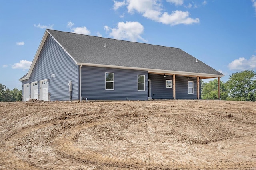
[[23,101],[200,99],[222,76],[178,48],[46,29],[20,81]]

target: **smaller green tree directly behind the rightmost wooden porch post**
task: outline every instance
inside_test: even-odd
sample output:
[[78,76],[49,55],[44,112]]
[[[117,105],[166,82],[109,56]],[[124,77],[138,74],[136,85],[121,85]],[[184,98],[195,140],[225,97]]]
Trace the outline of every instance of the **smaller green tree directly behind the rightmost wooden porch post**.
[[[219,99],[217,79],[209,81],[209,83],[202,82],[201,89],[202,99]],[[228,98],[228,89],[223,81],[220,81],[220,98],[222,100],[226,100]]]

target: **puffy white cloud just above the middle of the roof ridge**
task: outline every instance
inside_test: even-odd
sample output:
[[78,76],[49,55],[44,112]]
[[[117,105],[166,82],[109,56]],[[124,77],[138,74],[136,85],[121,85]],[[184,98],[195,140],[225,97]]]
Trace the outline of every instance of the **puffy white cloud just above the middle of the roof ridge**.
[[118,22],[117,28],[110,28],[104,26],[104,29],[109,33],[110,37],[119,40],[129,40],[137,42],[137,39],[146,42],[144,38],[141,37],[141,34],[144,32],[144,26],[139,22]]

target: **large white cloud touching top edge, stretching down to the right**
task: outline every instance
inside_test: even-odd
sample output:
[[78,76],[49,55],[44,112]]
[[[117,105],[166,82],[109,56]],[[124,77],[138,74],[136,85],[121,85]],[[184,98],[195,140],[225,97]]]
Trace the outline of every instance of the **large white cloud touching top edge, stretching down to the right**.
[[[172,0],[173,3],[183,4],[183,1]],[[138,12],[142,16],[161,22],[167,25],[178,24],[194,24],[199,22],[199,18],[190,18],[188,11],[173,11],[171,14],[168,12],[162,12],[162,4],[158,0],[127,0],[127,9],[129,13]]]

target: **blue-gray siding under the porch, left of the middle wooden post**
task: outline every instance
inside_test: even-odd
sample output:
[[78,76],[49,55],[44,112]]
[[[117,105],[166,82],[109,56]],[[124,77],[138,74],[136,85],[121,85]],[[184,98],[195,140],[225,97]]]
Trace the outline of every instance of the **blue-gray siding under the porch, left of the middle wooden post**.
[[173,99],[173,89],[166,88],[166,80],[172,80],[172,75],[148,74],[151,81],[151,97],[153,99]]

